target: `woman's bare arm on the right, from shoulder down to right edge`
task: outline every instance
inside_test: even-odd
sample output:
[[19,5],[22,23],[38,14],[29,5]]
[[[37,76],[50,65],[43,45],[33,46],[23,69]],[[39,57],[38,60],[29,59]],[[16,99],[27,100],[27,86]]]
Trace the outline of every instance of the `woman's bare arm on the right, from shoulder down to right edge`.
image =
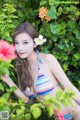
[[78,89],[70,82],[57,59],[51,54],[48,55],[48,58],[50,60],[49,63],[51,64],[52,73],[54,74],[55,78],[61,83],[64,89],[72,89],[76,96],[76,102],[80,104],[80,92],[78,91]]

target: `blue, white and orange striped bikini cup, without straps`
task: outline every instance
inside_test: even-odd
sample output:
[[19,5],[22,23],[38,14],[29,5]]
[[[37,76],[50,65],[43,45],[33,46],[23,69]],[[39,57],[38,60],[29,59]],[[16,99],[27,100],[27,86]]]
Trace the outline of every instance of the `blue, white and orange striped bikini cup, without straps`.
[[38,95],[46,95],[54,89],[53,82],[44,74],[40,74],[35,84],[35,91]]

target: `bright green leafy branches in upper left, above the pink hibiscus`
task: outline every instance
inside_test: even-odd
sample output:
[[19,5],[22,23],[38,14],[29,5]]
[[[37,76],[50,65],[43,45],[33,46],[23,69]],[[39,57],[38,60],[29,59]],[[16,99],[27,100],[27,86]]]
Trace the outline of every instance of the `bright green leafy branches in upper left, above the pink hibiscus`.
[[[2,6],[1,6],[2,7]],[[15,28],[16,19],[18,18],[14,13],[16,9],[11,4],[4,4],[0,7],[0,39],[5,39],[8,42],[12,42],[10,34],[12,29]]]

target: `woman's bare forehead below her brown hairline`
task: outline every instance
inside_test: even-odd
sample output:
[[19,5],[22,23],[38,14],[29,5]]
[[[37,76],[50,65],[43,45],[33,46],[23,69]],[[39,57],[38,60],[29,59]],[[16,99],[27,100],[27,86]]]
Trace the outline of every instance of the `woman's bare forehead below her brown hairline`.
[[32,40],[31,36],[28,33],[20,33],[15,37],[15,41],[22,41],[22,40],[27,40],[30,41]]

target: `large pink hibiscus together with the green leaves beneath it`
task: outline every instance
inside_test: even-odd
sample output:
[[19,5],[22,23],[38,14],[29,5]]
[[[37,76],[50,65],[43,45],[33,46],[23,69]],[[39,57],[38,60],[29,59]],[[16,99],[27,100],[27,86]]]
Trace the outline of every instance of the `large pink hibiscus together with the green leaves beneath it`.
[[9,74],[9,67],[13,67],[11,61],[16,58],[13,44],[0,40],[0,76]]

